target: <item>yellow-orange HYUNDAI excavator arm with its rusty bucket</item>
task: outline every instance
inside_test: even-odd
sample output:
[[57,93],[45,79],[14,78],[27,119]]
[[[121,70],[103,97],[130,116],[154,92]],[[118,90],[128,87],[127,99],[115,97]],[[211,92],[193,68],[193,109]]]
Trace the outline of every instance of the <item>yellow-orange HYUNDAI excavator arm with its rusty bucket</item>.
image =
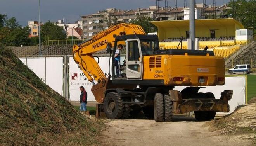
[[119,23],[99,32],[92,39],[73,46],[74,61],[85,73],[88,80],[93,83],[92,93],[99,103],[103,102],[109,78],[106,78],[97,61],[93,58],[93,54],[105,51],[108,43],[114,42],[116,36],[126,34],[145,34],[145,32],[139,25]]

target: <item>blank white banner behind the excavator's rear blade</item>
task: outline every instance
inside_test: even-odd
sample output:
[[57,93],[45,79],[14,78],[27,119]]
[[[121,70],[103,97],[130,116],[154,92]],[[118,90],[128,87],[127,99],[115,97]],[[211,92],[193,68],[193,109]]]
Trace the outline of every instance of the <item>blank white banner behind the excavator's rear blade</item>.
[[[173,90],[183,90],[184,86],[176,86]],[[224,90],[233,90],[233,97],[228,104],[230,105],[230,112],[217,112],[216,114],[230,114],[235,110],[238,105],[246,103],[245,91],[246,91],[246,78],[245,76],[226,77],[225,85],[223,86],[207,86],[206,88],[199,89],[198,92],[212,92],[216,99],[220,99],[220,93]]]

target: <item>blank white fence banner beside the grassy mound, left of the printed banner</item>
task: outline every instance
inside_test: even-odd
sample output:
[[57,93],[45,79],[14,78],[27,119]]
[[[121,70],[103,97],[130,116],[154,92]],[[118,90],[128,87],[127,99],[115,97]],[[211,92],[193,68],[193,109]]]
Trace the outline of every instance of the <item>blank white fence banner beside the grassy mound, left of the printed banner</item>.
[[62,57],[28,57],[19,58],[44,83],[62,95],[63,58]]

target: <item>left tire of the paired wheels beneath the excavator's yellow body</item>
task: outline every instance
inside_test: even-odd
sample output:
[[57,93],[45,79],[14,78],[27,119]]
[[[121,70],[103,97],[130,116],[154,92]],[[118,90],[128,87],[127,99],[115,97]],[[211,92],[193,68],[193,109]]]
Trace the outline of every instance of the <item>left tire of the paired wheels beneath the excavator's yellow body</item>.
[[164,97],[156,93],[154,98],[154,119],[156,122],[164,121]]

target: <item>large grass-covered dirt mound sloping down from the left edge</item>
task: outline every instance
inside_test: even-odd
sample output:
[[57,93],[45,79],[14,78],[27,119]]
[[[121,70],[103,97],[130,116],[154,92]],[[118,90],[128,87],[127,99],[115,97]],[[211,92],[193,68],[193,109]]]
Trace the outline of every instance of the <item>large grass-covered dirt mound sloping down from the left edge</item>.
[[0,145],[95,145],[100,126],[0,46]]

